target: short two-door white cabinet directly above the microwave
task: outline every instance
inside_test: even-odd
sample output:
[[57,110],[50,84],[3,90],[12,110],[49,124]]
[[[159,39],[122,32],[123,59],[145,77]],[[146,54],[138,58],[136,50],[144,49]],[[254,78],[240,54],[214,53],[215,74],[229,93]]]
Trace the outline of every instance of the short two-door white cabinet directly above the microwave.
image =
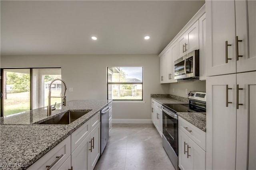
[[199,49],[199,21],[197,20],[178,39],[178,59],[193,50]]

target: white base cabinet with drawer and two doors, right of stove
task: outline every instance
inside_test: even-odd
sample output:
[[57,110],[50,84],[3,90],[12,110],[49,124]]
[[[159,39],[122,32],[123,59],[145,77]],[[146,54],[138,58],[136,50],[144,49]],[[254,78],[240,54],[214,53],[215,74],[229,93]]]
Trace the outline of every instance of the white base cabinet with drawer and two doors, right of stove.
[[[205,147],[206,133],[194,125],[190,125],[188,121],[180,117],[178,120],[179,168],[181,170],[205,170],[206,151],[204,151],[201,147]],[[184,123],[181,123],[180,121],[184,121]],[[186,125],[186,127],[184,125]],[[204,137],[204,139],[197,139],[196,134],[200,134],[200,137]],[[196,144],[198,141],[200,141],[200,146]]]

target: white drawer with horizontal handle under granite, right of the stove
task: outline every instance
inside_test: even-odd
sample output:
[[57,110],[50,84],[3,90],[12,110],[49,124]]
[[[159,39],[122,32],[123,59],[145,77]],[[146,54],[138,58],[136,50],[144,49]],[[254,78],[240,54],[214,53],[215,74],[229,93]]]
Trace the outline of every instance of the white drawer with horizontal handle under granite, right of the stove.
[[198,146],[200,146],[203,150],[206,150],[206,133],[204,131],[192,125],[180,116],[178,117],[178,127]]

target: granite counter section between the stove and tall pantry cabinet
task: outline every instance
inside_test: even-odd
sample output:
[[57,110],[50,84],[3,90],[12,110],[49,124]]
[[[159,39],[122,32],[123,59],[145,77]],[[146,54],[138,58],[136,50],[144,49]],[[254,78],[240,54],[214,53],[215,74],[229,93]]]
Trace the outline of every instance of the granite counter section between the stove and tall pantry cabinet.
[[189,123],[195,125],[202,131],[206,132],[206,113],[205,112],[178,112],[178,116],[182,117]]

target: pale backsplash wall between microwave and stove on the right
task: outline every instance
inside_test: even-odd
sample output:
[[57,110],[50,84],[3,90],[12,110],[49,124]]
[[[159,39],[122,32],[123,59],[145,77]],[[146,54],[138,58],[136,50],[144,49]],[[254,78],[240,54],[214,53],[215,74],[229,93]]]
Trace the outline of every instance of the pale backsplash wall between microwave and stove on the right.
[[205,80],[193,80],[179,83],[171,83],[169,94],[176,96],[181,96],[187,98],[186,89],[188,92],[197,91],[197,92],[206,92],[206,81]]

